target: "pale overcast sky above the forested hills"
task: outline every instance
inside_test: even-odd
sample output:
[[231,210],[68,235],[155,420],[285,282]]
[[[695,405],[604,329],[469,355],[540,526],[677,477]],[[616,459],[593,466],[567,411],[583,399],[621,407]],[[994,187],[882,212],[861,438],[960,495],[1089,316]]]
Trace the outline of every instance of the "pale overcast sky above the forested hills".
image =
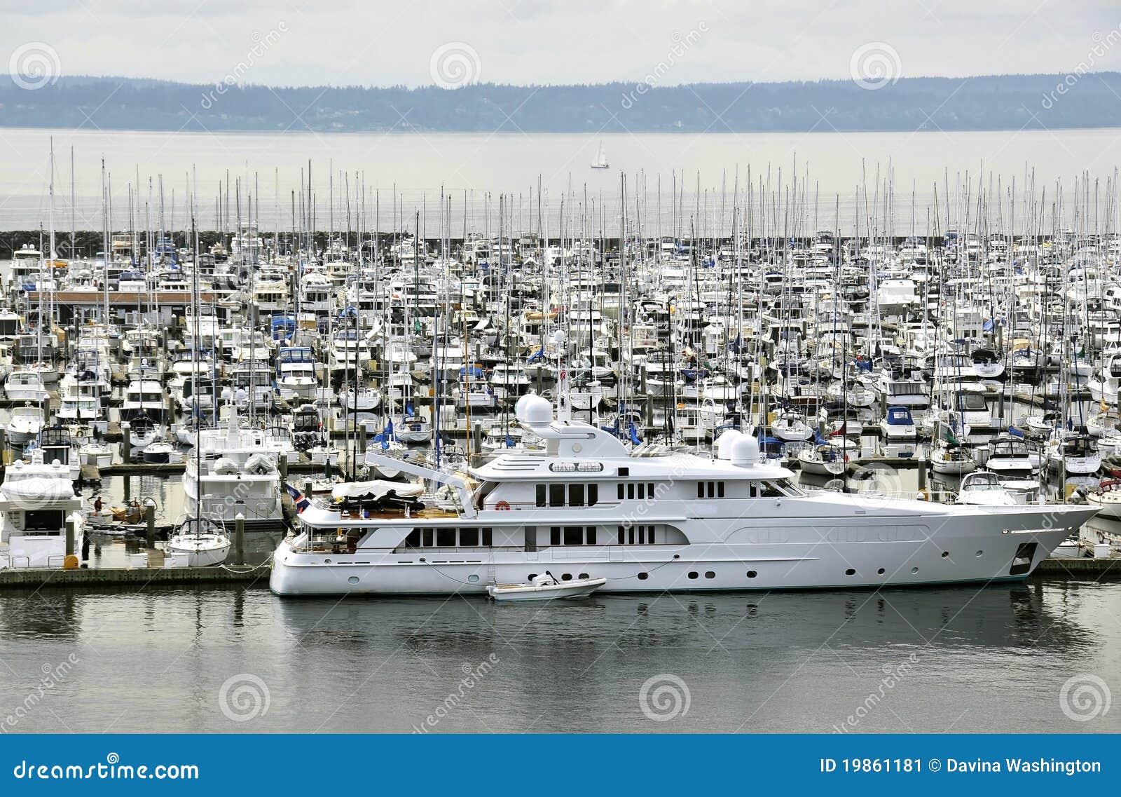
[[845,78],[870,44],[902,76],[1121,69],[1118,0],[0,0],[0,72],[41,41],[63,75],[197,83]]

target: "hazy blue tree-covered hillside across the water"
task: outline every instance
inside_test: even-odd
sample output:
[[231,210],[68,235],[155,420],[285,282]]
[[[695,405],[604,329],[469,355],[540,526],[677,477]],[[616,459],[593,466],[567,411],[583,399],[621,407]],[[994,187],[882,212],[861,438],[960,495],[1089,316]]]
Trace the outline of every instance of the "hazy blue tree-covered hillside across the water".
[[[1056,89],[1064,85],[1065,93]],[[1121,127],[1121,73],[706,83],[474,84],[444,90],[266,87],[61,77],[29,91],[0,75],[0,127],[131,130],[612,132],[1020,130]],[[305,110],[306,109],[306,110]],[[298,115],[297,115],[298,114]]]

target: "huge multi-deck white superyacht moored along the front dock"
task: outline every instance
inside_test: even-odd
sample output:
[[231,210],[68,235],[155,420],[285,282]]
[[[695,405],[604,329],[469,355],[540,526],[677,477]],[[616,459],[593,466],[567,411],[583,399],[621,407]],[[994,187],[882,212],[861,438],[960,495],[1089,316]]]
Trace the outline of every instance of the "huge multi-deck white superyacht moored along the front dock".
[[544,452],[511,451],[467,478],[395,460],[439,491],[367,482],[313,501],[276,550],[272,591],[482,594],[545,571],[606,577],[605,592],[1016,580],[1095,511],[807,493],[738,432],[713,458],[639,457],[595,426],[554,420],[539,396],[516,415]]

